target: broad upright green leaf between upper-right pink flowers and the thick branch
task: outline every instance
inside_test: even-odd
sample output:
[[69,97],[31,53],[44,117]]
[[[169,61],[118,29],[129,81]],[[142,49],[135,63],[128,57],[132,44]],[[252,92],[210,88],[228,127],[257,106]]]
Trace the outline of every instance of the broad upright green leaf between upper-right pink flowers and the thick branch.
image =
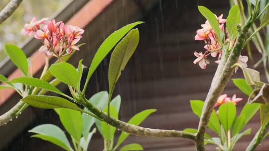
[[240,23],[240,20],[240,11],[237,4],[231,7],[226,22],[228,32],[230,34],[230,37],[232,37],[231,40],[234,40],[234,38],[236,38],[238,35],[237,24]]

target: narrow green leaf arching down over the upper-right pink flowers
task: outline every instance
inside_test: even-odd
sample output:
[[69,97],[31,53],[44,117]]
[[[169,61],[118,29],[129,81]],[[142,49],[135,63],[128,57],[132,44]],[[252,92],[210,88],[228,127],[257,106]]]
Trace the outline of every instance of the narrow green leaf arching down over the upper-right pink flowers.
[[215,31],[216,35],[218,36],[219,41],[222,43],[222,36],[221,36],[221,30],[219,27],[219,22],[215,14],[210,11],[205,6],[198,6],[198,9],[200,13],[209,21],[211,27]]

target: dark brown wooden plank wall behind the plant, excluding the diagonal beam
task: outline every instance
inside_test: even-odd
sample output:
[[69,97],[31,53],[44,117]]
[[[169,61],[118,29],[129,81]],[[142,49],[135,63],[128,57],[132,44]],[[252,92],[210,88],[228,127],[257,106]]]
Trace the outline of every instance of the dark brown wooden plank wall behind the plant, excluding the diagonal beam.
[[[120,2],[119,2],[120,1]],[[116,0],[108,12],[100,15],[95,23],[89,24],[85,32],[85,50],[75,56],[72,62],[83,56],[90,56],[97,50],[102,40],[120,26],[136,20],[145,21],[139,25],[140,42],[134,57],[123,71],[116,87],[115,94],[122,96],[120,119],[128,121],[131,116],[148,108],[155,108],[157,112],[150,115],[143,123],[143,127],[183,130],[196,128],[199,118],[190,108],[189,100],[204,100],[217,65],[212,61],[206,70],[202,70],[192,62],[194,51],[203,51],[203,42],[194,41],[195,31],[200,28],[205,19],[197,10],[197,5],[205,5],[217,15],[221,13],[227,17],[229,0]],[[118,3],[117,3],[118,2]],[[150,6],[150,7],[149,7]],[[114,14],[118,14],[116,17]],[[94,26],[93,24],[102,26]],[[95,28],[94,28],[95,27]],[[99,29],[101,27],[101,29]],[[96,30],[96,31],[94,31]],[[95,33],[95,34],[93,34]],[[90,44],[89,44],[90,43]],[[83,52],[89,51],[91,52]],[[254,50],[255,51],[255,50]],[[243,52],[246,54],[246,52]],[[256,59],[259,55],[255,55]],[[85,64],[89,61],[85,58]],[[90,82],[88,96],[101,90],[108,90],[107,71],[109,57],[101,64]],[[262,70],[262,68],[261,68]],[[243,77],[241,71],[234,77]],[[263,77],[264,79],[264,77]],[[229,83],[225,93],[232,96],[237,94],[244,100],[239,103],[238,110],[246,103],[247,97],[240,92],[233,83]],[[53,111],[41,112],[36,110],[38,118],[25,129],[6,150],[58,150],[59,148],[37,139],[29,139],[27,130],[43,123],[56,123],[57,116]],[[256,115],[247,128],[253,127],[251,135],[244,137],[236,150],[244,150],[254,132],[259,128],[259,115]],[[211,131],[208,133],[215,136]],[[117,132],[119,135],[120,133]],[[93,137],[91,150],[102,150],[103,140],[99,134]],[[116,137],[117,138],[117,137]],[[116,139],[117,140],[117,139]],[[139,143],[145,150],[195,150],[192,141],[178,138],[143,138],[131,136],[126,143]],[[268,141],[259,147],[267,150]],[[215,146],[207,149],[214,150]]]

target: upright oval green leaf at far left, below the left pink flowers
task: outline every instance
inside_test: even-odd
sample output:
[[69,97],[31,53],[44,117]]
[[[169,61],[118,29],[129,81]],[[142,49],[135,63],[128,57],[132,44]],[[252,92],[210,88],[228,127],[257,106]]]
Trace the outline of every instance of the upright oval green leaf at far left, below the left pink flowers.
[[5,45],[5,50],[10,60],[16,65],[21,72],[27,76],[28,75],[28,61],[27,58],[20,48],[15,45]]

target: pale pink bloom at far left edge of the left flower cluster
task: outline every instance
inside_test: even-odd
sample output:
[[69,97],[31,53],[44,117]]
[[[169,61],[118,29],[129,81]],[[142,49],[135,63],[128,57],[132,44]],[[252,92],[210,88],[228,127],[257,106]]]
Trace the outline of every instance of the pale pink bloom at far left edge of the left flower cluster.
[[24,28],[21,29],[20,34],[31,36],[33,33],[35,33],[37,30],[39,30],[40,25],[45,24],[45,22],[47,20],[48,20],[48,18],[43,18],[41,20],[36,21],[36,18],[33,17],[33,19],[30,21],[29,24],[24,25]]

